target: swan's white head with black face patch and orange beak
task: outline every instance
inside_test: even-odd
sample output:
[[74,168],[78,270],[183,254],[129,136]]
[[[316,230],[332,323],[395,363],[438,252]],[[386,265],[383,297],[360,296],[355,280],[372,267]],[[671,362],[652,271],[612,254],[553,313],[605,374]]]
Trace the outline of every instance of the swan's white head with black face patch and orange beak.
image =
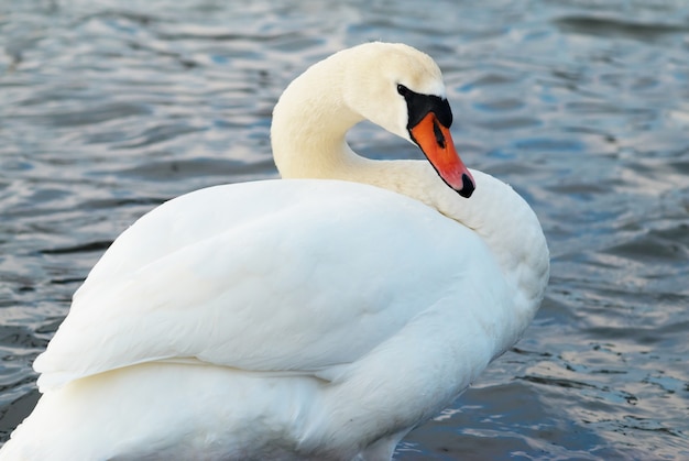
[[342,96],[361,117],[415,144],[442,180],[462,197],[475,186],[455,150],[452,111],[438,65],[403,44],[367,43],[349,48]]

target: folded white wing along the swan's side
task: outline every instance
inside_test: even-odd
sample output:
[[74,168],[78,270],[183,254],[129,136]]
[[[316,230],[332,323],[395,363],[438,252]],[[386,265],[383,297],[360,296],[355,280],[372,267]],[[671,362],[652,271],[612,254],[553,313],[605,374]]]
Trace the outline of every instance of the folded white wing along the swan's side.
[[205,189],[113,243],[34,367],[42,387],[155,360],[327,375],[447,296],[475,251],[461,226],[370,186]]

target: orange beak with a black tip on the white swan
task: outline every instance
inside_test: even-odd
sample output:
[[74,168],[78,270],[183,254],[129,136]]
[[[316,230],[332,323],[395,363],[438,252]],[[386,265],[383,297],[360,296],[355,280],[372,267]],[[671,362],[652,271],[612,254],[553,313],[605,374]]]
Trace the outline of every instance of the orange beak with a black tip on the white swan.
[[471,197],[473,177],[455,150],[450,130],[438,122],[436,114],[428,112],[409,133],[442,180],[460,196]]

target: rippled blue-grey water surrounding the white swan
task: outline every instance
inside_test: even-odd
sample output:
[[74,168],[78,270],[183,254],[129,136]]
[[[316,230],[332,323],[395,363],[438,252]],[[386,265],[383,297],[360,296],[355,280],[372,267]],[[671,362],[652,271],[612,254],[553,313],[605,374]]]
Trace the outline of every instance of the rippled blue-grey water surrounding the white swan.
[[[0,6],[2,440],[114,237],[174,196],[275,177],[282,89],[381,39],[437,59],[458,151],[527,198],[553,252],[525,338],[396,458],[689,459],[686,2],[139,3]],[[371,125],[350,141],[418,157]]]

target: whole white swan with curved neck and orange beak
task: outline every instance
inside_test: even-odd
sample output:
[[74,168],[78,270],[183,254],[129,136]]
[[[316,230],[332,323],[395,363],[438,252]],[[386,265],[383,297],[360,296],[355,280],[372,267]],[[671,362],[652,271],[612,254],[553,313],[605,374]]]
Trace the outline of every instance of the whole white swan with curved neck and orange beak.
[[[363,119],[430,164],[354,154]],[[292,179],[197,190],[124,231],[0,459],[390,459],[520,338],[548,277],[534,212],[463,166],[450,123],[414,48],[310,67],[274,112]]]

